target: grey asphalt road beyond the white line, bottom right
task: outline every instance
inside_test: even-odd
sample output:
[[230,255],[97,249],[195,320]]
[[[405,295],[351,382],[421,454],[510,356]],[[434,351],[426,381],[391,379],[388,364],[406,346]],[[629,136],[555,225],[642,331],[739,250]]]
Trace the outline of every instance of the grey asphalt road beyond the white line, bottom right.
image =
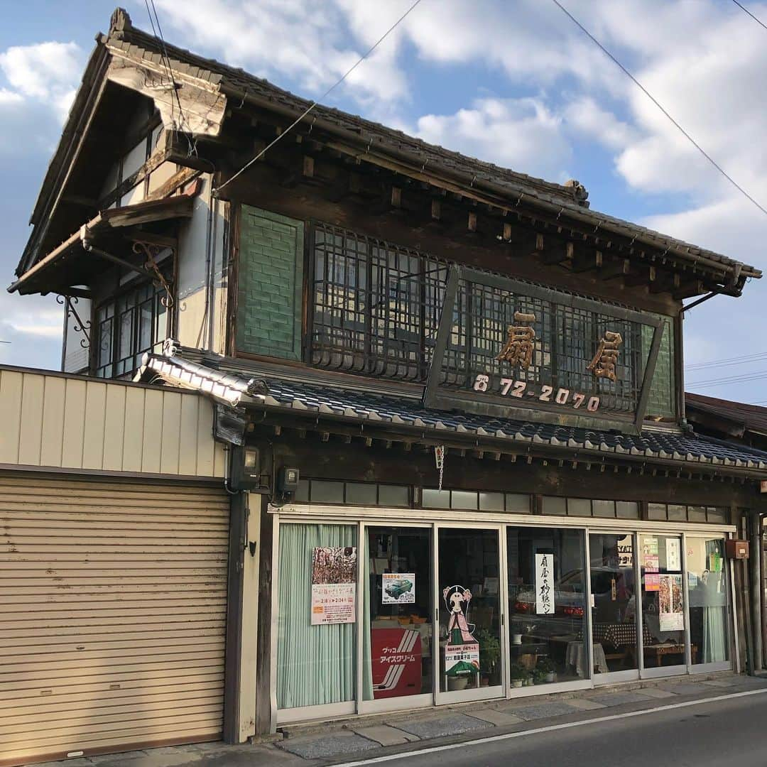
[[368,763],[377,762],[390,767],[765,767],[767,694]]

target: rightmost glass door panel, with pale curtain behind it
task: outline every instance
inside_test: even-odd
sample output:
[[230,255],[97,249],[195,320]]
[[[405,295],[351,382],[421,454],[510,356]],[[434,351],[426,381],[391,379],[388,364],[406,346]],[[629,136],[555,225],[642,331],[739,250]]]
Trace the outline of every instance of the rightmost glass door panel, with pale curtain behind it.
[[727,670],[730,662],[729,601],[724,538],[686,535],[690,600],[690,660],[696,672]]

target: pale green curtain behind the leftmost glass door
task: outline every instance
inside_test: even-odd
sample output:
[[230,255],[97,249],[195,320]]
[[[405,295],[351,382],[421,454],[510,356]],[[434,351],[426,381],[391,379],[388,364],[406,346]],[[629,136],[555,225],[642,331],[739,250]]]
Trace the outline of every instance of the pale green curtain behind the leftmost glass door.
[[311,557],[318,546],[356,545],[357,528],[353,525],[280,525],[280,709],[354,700],[356,624],[311,625]]

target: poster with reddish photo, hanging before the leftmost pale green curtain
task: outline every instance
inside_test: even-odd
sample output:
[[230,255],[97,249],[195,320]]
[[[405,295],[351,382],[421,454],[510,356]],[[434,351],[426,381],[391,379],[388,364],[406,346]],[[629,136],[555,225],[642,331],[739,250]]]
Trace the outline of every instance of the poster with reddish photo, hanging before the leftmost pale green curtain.
[[354,623],[357,548],[318,546],[311,557],[311,625]]

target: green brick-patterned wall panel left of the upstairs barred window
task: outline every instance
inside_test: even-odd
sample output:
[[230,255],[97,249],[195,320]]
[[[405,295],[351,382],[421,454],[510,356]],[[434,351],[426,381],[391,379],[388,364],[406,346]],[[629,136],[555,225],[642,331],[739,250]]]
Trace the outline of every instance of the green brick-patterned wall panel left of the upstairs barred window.
[[237,351],[301,359],[304,223],[242,206]]

